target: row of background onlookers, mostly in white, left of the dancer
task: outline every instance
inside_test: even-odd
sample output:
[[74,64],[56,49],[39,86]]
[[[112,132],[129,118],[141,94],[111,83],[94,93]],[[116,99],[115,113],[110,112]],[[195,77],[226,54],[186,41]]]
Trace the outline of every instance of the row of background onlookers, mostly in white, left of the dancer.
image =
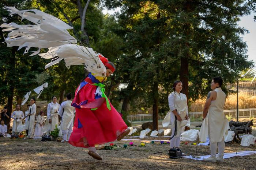
[[[40,111],[36,116],[36,104],[35,98],[30,99],[30,104],[27,105],[25,115],[21,111],[20,104],[16,105],[16,109],[12,114],[7,111],[5,106],[1,112],[1,124],[0,124],[0,137],[11,137],[8,134],[10,129],[11,119],[12,123],[12,135],[20,135],[22,131],[26,130],[27,138],[33,139],[34,137],[42,137],[44,133],[50,134],[52,130],[59,126],[59,116],[61,117],[60,129],[63,136],[63,141],[68,141],[74,122],[75,107],[71,106],[72,96],[71,93],[66,95],[66,101],[61,105],[57,103],[57,97],[52,96],[52,102],[47,107],[47,118],[45,120],[44,111]],[[23,120],[25,118],[25,124]]]

